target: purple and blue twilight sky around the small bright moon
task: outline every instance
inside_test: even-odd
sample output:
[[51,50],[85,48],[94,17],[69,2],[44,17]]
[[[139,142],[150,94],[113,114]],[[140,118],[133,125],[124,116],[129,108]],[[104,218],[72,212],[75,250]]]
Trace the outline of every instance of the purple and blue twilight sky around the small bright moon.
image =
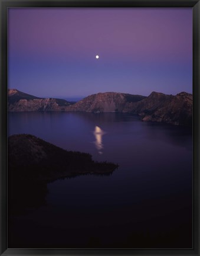
[[192,93],[192,8],[9,8],[8,87]]

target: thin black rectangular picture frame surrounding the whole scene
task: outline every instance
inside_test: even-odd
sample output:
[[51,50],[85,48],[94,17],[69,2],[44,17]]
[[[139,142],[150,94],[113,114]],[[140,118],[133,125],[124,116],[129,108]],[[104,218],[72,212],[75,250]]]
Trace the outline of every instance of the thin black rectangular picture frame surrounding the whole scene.
[[[193,8],[193,248],[192,249],[11,249],[7,247],[7,9],[11,7],[192,7]],[[1,91],[0,181],[1,255],[193,255],[199,254],[199,120],[200,3],[199,0],[0,0]]]

